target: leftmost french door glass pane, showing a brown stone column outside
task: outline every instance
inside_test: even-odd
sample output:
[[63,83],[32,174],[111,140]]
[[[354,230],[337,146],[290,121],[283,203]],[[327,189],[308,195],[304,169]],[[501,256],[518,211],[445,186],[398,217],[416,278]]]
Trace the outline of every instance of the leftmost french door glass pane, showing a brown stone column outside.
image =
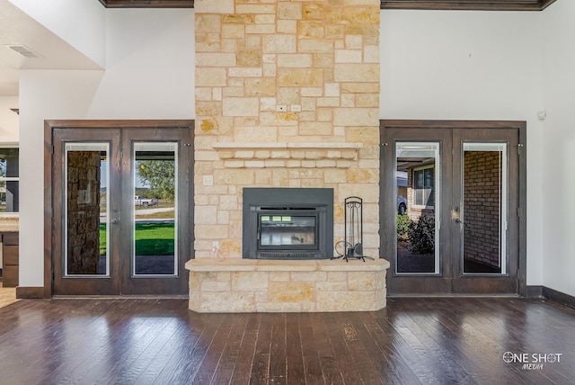
[[108,143],[66,143],[67,276],[110,276]]

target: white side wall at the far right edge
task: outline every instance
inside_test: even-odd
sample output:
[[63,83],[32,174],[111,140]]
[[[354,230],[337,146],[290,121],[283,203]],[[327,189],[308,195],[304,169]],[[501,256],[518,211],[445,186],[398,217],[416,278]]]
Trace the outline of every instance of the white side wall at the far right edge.
[[575,2],[544,11],[544,286],[575,296]]

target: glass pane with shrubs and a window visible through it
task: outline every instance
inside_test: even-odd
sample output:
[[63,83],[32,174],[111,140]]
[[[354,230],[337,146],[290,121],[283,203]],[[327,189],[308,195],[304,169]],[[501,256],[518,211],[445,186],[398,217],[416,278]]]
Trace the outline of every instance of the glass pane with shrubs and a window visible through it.
[[395,273],[439,273],[439,170],[438,142],[396,143]]

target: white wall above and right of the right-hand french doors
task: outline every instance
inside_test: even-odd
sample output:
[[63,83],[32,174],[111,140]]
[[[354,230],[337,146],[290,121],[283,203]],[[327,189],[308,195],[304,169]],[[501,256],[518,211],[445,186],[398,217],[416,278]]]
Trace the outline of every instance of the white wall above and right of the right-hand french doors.
[[527,122],[527,284],[542,284],[542,13],[385,10],[380,46],[382,119]]

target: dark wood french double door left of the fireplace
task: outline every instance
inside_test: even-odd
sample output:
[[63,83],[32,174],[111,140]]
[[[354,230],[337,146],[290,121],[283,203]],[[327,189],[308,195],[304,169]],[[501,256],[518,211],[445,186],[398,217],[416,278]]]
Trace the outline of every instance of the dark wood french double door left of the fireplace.
[[52,294],[186,294],[190,126],[62,122],[51,138]]

